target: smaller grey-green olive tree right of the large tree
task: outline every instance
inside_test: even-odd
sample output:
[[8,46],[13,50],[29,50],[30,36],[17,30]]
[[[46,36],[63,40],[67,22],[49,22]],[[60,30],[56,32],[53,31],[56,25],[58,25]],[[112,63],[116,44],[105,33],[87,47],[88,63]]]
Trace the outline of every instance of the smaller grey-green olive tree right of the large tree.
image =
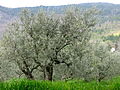
[[98,41],[94,43],[93,49],[93,76],[100,82],[105,78],[110,78],[114,74],[114,65],[116,60],[113,59],[113,53],[110,52],[109,45],[106,42]]

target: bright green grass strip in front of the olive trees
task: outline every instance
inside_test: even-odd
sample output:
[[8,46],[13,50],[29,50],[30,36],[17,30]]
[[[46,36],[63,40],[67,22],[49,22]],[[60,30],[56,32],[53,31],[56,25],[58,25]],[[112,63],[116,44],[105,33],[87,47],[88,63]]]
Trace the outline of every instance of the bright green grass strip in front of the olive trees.
[[1,82],[0,90],[120,90],[120,77],[100,83],[80,80],[49,82],[14,79]]

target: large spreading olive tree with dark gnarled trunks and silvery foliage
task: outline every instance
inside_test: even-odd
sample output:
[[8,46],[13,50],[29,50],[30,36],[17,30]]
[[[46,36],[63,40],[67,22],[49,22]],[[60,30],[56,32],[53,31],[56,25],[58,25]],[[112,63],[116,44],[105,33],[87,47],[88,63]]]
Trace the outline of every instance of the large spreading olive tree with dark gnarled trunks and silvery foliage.
[[95,10],[75,9],[58,17],[24,10],[3,39],[3,56],[15,62],[27,78],[34,79],[32,72],[40,67],[44,79],[52,81],[55,65],[63,63],[69,68],[83,56],[75,53],[75,47],[84,51],[96,23],[94,14]]

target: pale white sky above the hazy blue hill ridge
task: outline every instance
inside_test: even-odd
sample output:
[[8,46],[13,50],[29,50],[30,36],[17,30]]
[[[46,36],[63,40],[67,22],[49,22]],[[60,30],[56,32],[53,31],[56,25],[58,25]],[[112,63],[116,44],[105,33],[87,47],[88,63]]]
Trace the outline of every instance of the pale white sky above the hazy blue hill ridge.
[[32,6],[57,6],[67,4],[78,3],[90,3],[90,2],[109,2],[114,4],[120,4],[120,0],[0,0],[0,5],[5,7],[32,7]]

